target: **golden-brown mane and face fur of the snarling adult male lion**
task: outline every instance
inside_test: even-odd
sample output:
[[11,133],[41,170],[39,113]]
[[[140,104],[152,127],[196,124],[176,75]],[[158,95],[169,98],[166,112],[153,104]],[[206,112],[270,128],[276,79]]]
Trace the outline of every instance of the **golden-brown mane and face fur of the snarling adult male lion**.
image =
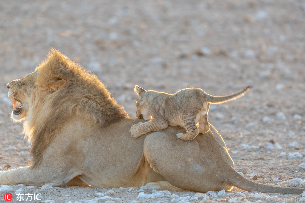
[[56,49],[51,49],[35,72],[10,85],[9,96],[28,104],[18,116],[26,117],[23,130],[31,142],[32,167],[41,162],[44,149],[69,117],[99,126],[128,117],[94,74]]

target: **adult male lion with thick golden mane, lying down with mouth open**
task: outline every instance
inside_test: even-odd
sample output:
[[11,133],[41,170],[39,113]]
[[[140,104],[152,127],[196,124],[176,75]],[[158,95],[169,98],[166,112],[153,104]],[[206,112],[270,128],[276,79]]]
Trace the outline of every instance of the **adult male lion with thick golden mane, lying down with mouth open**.
[[234,170],[220,134],[211,126],[192,141],[180,127],[134,139],[124,109],[93,74],[52,49],[33,73],[7,86],[12,118],[24,120],[30,166],[0,172],[0,184],[92,185],[199,192],[229,190],[301,194],[304,189],[254,183]]

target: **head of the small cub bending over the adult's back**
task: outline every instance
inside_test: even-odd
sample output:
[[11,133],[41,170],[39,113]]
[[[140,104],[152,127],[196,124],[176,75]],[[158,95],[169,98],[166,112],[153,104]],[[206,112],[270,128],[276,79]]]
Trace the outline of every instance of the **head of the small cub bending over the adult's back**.
[[136,103],[137,112],[136,116],[138,118],[144,118],[145,120],[150,120],[152,115],[150,113],[150,101],[149,101],[149,91],[146,91],[142,87],[135,85],[134,91],[138,94],[139,99]]

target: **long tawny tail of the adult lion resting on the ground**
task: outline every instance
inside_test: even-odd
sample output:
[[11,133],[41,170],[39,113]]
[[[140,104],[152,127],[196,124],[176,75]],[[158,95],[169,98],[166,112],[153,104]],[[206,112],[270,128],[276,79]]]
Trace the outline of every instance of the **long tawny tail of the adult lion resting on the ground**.
[[244,178],[242,175],[237,173],[233,168],[229,172],[230,177],[228,178],[228,183],[234,187],[237,187],[241,190],[250,192],[258,191],[262,193],[271,192],[271,193],[283,193],[283,194],[302,194],[305,189],[301,188],[292,188],[292,187],[274,187],[270,185],[264,185],[260,183],[255,183],[251,180]]

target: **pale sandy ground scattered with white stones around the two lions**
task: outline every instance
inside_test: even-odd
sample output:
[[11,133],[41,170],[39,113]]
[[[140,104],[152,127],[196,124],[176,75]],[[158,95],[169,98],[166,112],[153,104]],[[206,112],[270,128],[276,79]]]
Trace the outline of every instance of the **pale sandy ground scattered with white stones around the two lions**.
[[[213,105],[210,123],[223,136],[235,169],[256,174],[253,181],[286,186],[281,182],[305,180],[299,166],[305,162],[303,0],[4,0],[0,11],[0,170],[27,166],[30,157],[21,125],[9,118],[6,84],[34,71],[54,47],[94,72],[131,117],[135,84],[168,93],[199,87],[216,96],[253,84],[244,97]],[[304,182],[295,187],[304,188]],[[149,188],[26,187],[10,192],[36,191],[53,202],[92,200],[101,197],[97,193],[111,197],[99,202],[174,202],[173,193],[190,202],[301,199],[242,197],[237,188],[231,196],[205,200],[190,191],[137,198],[142,190],[152,194]]]

